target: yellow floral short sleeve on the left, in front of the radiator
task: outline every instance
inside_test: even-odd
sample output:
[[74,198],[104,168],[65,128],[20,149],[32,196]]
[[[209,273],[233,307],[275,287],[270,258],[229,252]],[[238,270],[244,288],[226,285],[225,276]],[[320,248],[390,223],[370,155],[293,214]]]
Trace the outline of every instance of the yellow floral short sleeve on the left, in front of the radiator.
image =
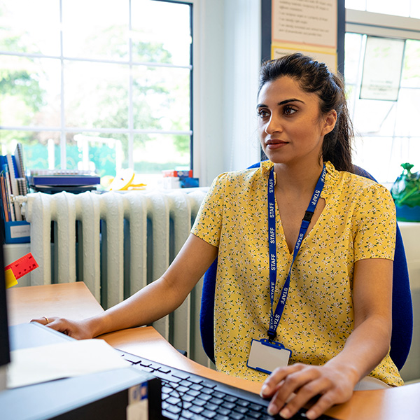
[[227,177],[228,174],[221,174],[213,181],[191,229],[193,235],[217,247],[221,238]]

